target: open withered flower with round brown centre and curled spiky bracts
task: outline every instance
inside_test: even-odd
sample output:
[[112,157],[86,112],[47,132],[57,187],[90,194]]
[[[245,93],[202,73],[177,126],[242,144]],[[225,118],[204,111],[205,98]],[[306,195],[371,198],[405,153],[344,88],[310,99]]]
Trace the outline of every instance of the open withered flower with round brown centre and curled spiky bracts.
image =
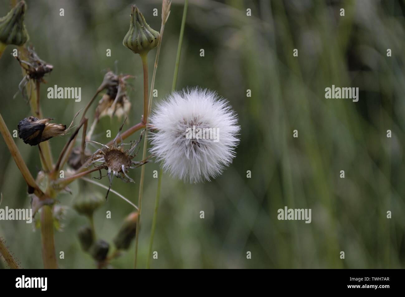
[[[124,123],[125,123],[125,121],[124,121]],[[128,176],[128,174],[127,174],[128,170],[144,165],[145,163],[148,162],[147,159],[149,159],[149,157],[148,157],[145,160],[142,160],[140,162],[132,160],[139,151],[139,148],[138,148],[138,151],[136,151],[136,153],[134,153],[135,148],[141,142],[143,132],[141,132],[139,140],[137,140],[135,143],[132,143],[132,141],[130,143],[123,143],[120,133],[121,133],[122,127],[124,126],[124,123],[122,123],[121,127],[119,128],[117,136],[115,136],[115,138],[113,140],[113,144],[111,144],[111,146],[107,146],[105,144],[101,144],[99,142],[95,142],[92,140],[86,140],[87,142],[93,142],[93,143],[96,143],[96,144],[99,144],[100,146],[102,146],[102,148],[99,148],[92,155],[92,157],[91,157],[92,161],[91,161],[90,165],[94,165],[94,167],[99,168],[100,170],[101,169],[107,170],[107,176],[110,181],[110,186],[109,186],[107,194],[105,196],[106,199],[110,192],[111,183],[113,181],[114,176],[117,176],[118,178],[124,180],[124,182],[134,182],[134,180],[132,180],[132,178],[130,178]],[[117,143],[118,139],[121,140],[120,144]],[[127,150],[124,150],[125,145],[129,145],[130,147]],[[134,154],[132,155],[132,153],[134,153]],[[101,164],[96,164],[96,163],[101,163]],[[101,171],[100,171],[100,178],[102,178]]]

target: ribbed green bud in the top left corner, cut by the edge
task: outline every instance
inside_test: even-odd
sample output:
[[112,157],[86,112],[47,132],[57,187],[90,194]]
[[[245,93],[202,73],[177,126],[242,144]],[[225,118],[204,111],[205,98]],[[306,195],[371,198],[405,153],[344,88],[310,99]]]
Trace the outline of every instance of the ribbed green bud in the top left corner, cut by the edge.
[[24,1],[0,18],[0,42],[6,45],[23,45],[28,40],[28,32],[23,23],[27,5]]

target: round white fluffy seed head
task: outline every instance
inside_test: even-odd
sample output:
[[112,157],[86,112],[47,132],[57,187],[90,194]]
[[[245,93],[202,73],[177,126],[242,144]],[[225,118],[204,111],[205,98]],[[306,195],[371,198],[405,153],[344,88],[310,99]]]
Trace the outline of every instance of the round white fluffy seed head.
[[164,171],[176,178],[209,181],[235,157],[240,130],[237,120],[229,103],[215,91],[193,88],[174,92],[150,117],[151,127],[157,130],[151,135],[150,152],[162,162]]

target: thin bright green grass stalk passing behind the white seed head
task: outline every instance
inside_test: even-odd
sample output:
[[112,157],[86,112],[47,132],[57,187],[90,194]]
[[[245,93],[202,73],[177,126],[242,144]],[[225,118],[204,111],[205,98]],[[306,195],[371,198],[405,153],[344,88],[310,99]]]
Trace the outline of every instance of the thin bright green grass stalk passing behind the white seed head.
[[[177,55],[176,55],[176,64],[175,64],[175,71],[173,74],[173,83],[172,83],[172,92],[176,89],[177,83],[177,74],[179,73],[179,64],[180,64],[180,56],[181,56],[181,45],[183,44],[183,35],[184,35],[184,27],[185,27],[185,19],[187,16],[187,6],[188,0],[184,1],[184,8],[183,8],[183,17],[181,19],[181,28],[180,28],[180,36],[179,36],[179,45],[177,46]],[[159,175],[158,175],[158,189],[156,191],[156,202],[155,202],[155,212],[153,214],[153,221],[152,221],[152,230],[151,230],[151,238],[149,242],[149,255],[147,259],[146,268],[149,269],[150,267],[150,259],[152,257],[152,246],[153,246],[153,236],[155,234],[156,229],[156,221],[158,218],[158,207],[159,207],[159,199],[160,199],[160,188],[162,185],[162,175],[163,169],[160,168]]]

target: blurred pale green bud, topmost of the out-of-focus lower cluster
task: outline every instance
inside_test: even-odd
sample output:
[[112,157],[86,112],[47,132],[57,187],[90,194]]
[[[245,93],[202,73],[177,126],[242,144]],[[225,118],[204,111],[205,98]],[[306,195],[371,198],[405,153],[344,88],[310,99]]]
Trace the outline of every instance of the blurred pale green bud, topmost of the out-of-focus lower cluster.
[[77,195],[73,208],[79,214],[91,216],[101,204],[105,201],[104,197],[97,191],[91,191],[85,184],[85,181],[79,180],[79,195]]

